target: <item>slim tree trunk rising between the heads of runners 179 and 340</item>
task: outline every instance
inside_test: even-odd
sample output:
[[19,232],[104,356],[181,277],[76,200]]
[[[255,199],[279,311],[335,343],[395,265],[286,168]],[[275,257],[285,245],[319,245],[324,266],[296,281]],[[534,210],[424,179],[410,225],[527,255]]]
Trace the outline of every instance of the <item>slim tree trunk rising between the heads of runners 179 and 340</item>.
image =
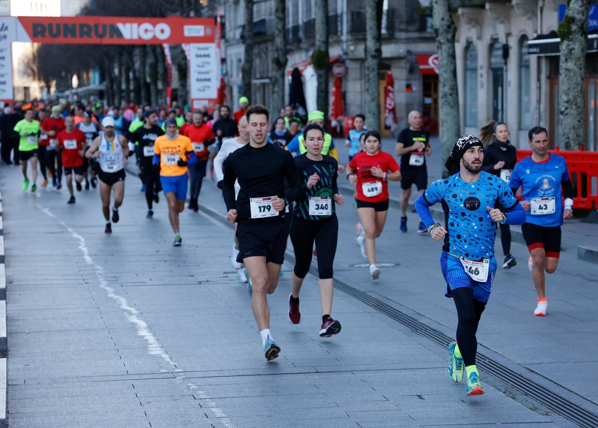
[[274,0],[274,58],[272,67],[270,107],[278,112],[285,106],[286,71],[286,1]]

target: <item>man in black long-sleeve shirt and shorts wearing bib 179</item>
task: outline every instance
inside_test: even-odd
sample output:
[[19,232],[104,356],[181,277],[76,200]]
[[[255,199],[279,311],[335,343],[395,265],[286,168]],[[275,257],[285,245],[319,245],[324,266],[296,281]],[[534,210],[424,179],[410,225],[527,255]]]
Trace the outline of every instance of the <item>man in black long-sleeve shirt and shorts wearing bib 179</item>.
[[[278,285],[285,258],[285,206],[301,193],[299,173],[290,152],[267,142],[269,111],[255,105],[246,112],[249,144],[224,161],[222,195],[227,220],[237,222],[238,262],[249,274],[248,292],[267,360],[280,353],[270,334],[270,308],[266,299]],[[285,178],[289,189],[285,197]],[[234,182],[240,191],[234,198]],[[290,215],[290,214],[289,214]]]

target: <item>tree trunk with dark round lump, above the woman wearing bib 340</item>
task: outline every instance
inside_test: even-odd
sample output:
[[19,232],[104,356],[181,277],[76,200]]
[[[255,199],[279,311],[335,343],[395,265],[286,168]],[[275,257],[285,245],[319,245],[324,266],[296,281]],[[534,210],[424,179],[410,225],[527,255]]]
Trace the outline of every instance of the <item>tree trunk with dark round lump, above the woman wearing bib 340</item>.
[[316,49],[312,53],[312,63],[318,77],[316,105],[328,116],[328,0],[318,1],[315,15]]

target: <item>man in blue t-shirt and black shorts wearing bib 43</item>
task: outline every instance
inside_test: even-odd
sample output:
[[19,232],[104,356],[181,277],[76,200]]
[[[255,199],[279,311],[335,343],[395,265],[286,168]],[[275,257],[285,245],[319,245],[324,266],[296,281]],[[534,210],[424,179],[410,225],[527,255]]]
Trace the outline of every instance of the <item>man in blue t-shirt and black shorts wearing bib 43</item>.
[[527,212],[521,232],[530,252],[527,265],[538,294],[533,314],[544,316],[548,307],[544,271],[557,270],[560,227],[563,219],[573,218],[573,188],[565,158],[548,152],[547,130],[536,126],[529,130],[528,137],[532,154],[515,165],[509,187],[517,192],[521,186],[521,205]]

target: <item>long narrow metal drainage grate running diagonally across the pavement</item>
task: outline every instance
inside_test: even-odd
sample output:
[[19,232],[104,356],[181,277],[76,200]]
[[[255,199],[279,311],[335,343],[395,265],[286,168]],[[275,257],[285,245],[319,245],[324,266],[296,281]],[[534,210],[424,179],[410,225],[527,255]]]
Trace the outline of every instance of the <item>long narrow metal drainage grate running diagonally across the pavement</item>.
[[[227,222],[227,220],[224,217],[214,212],[213,210],[210,210],[203,206],[200,206],[199,209],[202,212],[209,215],[210,217],[226,225],[227,227],[234,228],[232,223]],[[289,252],[285,254],[285,259],[293,263],[295,262],[295,256]],[[318,278],[317,268],[310,267],[309,273]],[[335,279],[334,288],[352,296],[353,298],[358,299],[362,303],[365,303],[368,306],[376,309],[380,313],[385,314],[390,319],[393,319],[396,322],[399,322],[402,325],[406,326],[414,333],[417,333],[442,347],[447,347],[447,345],[453,341],[453,338],[450,338],[449,336],[438,331],[437,329],[431,328],[425,323],[422,323],[414,319],[413,317],[402,313],[398,309],[393,308],[392,306],[386,304],[383,301],[380,301],[379,299],[373,296],[370,296],[362,291],[359,291],[356,288],[353,288],[347,283]],[[535,399],[536,401],[541,402],[545,406],[550,407],[551,409],[553,409],[553,411],[557,412],[558,414],[578,424],[581,427],[598,427],[598,415],[596,415],[595,413],[587,409],[584,409],[582,406],[573,403],[572,401],[569,401],[568,399],[560,396],[556,392],[551,391],[547,387],[544,387],[541,384],[536,383],[535,381],[515,372],[514,370],[508,368],[505,365],[502,365],[501,363],[493,360],[490,357],[485,356],[482,353],[478,352],[475,357],[476,365],[483,369],[487,374],[496,377],[498,380],[517,389],[518,391],[524,393],[530,398]]]

